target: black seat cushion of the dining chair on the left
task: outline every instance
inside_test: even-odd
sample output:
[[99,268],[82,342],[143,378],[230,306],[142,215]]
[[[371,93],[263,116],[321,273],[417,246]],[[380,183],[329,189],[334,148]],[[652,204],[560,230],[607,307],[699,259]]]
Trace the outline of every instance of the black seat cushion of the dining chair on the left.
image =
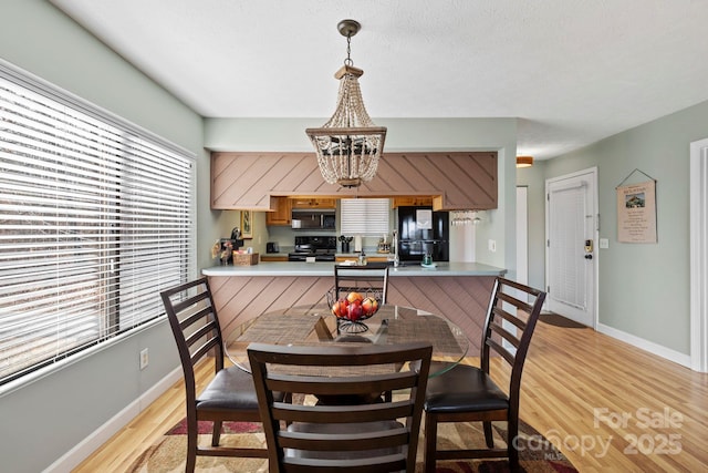
[[253,377],[238,367],[220,370],[197,397],[197,410],[258,411]]

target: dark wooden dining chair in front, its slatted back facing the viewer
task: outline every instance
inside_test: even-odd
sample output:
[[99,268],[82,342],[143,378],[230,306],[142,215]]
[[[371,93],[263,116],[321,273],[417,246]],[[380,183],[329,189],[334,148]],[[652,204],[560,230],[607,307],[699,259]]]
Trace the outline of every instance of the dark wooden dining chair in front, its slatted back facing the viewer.
[[[433,347],[425,342],[327,347],[251,343],[248,354],[268,443],[269,471],[413,473],[431,353]],[[393,369],[400,363],[404,369]],[[387,390],[396,391],[392,401],[315,402]],[[273,391],[293,399],[304,394],[305,402],[279,402]]]

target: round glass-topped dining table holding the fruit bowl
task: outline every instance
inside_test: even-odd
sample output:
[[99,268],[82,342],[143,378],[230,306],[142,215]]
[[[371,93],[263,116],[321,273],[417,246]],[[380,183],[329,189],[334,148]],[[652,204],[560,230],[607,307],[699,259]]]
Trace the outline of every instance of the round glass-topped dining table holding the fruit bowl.
[[434,361],[446,361],[433,363],[428,377],[450,370],[462,361],[469,348],[469,340],[459,327],[429,311],[384,304],[371,318],[352,325],[337,319],[326,304],[317,304],[267,311],[240,323],[227,331],[225,349],[233,364],[251,372],[247,348],[252,342],[312,347],[419,341],[430,342]]

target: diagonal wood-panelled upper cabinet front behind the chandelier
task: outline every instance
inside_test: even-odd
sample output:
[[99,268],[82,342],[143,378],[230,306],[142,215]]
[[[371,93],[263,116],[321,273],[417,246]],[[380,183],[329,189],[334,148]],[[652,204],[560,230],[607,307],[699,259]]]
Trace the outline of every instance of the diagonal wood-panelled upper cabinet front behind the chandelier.
[[358,188],[327,184],[313,153],[211,154],[211,208],[272,210],[271,197],[431,196],[436,210],[497,208],[497,153],[386,153]]

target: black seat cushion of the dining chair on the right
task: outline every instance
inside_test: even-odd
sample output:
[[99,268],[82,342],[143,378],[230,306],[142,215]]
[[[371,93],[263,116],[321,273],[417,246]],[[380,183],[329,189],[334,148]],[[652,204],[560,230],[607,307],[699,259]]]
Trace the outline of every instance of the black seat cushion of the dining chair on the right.
[[426,412],[455,413],[498,409],[509,409],[509,397],[479,368],[458,364],[428,379]]

